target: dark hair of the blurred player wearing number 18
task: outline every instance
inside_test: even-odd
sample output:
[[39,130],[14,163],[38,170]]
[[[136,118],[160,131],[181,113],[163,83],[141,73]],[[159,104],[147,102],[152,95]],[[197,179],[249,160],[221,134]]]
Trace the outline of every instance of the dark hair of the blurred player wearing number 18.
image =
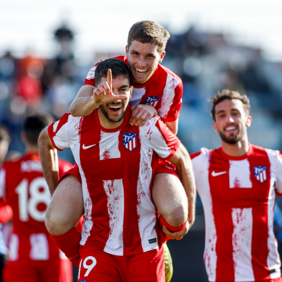
[[37,113],[26,117],[23,124],[23,131],[29,144],[37,145],[40,132],[54,121],[52,116],[44,113]]

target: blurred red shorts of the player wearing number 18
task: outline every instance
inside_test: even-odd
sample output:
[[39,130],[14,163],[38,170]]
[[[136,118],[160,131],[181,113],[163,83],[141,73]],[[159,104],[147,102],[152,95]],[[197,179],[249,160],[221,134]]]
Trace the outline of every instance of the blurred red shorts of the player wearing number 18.
[[7,261],[3,281],[9,282],[72,282],[72,263],[68,259]]

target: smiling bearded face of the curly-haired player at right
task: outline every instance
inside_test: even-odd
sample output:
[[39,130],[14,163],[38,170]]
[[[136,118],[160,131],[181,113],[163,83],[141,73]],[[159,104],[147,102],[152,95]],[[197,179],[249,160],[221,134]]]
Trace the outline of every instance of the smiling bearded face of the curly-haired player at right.
[[242,102],[238,99],[225,99],[215,106],[213,126],[222,141],[236,144],[247,137],[251,117],[247,116]]

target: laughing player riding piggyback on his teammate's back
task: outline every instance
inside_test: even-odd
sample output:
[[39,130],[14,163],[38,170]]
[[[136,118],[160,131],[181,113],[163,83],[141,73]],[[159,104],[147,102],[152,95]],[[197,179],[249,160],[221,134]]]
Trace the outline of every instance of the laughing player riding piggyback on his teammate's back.
[[[150,117],[159,115],[168,128],[176,134],[179,110],[182,104],[183,85],[181,79],[175,73],[160,64],[164,58],[165,46],[169,37],[167,30],[156,22],[137,22],[129,31],[126,55],[116,58],[125,61],[130,68],[131,85],[133,85],[133,98],[130,102],[133,105],[131,107],[130,124],[142,126]],[[97,96],[93,94],[96,67],[97,64],[89,71],[84,85],[70,106],[70,113],[73,116],[86,116],[100,103],[100,101],[95,100],[94,97]],[[109,88],[106,88],[105,91],[109,91]],[[111,101],[115,101],[122,99],[122,96],[113,95],[111,99]],[[76,170],[73,168],[69,174],[77,175],[78,167],[76,167]],[[192,170],[188,174],[192,176]],[[75,188],[81,190],[81,185],[75,177],[69,175],[66,178],[57,189],[60,189],[61,186],[63,190],[67,190],[66,187],[72,187],[72,191],[67,195],[70,196],[72,193],[76,195],[73,203],[71,199],[69,201],[69,208],[72,209],[73,205],[77,204],[78,192],[75,191]],[[193,183],[193,179],[190,182]],[[153,178],[152,193],[162,222],[170,230],[182,226],[187,219],[188,209],[188,220],[181,235],[177,237],[170,235],[170,238],[182,238],[195,220],[193,187],[186,189],[188,207],[183,206],[185,204],[183,191],[182,183],[177,177],[175,168],[169,162],[160,160]],[[64,205],[64,210],[69,211],[67,204]],[[70,212],[73,214],[73,211]],[[50,212],[46,218],[46,226],[52,235],[62,235],[71,228],[73,219],[77,217],[69,216],[70,212],[65,212],[64,216],[61,213],[56,213],[55,210]]]

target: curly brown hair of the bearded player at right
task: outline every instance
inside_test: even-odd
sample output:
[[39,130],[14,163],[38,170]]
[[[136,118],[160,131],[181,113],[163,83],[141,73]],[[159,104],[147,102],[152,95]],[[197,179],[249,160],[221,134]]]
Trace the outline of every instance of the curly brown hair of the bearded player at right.
[[211,102],[211,116],[215,121],[215,106],[225,99],[238,99],[242,102],[246,115],[250,113],[250,100],[246,95],[241,95],[238,91],[223,89],[222,92],[218,91],[216,95],[210,98]]

